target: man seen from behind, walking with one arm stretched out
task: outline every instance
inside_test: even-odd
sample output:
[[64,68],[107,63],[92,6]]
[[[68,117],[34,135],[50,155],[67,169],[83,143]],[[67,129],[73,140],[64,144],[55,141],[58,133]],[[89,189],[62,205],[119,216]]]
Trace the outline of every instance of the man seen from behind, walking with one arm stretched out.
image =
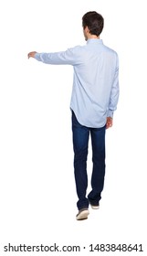
[[[28,53],[47,64],[68,64],[74,69],[70,109],[74,148],[74,171],[79,213],[77,219],[88,219],[91,208],[100,206],[105,176],[105,131],[112,126],[113,112],[119,99],[119,63],[117,53],[100,39],[103,17],[88,12],[82,17],[85,46],[55,53]],[[91,191],[87,196],[87,156],[89,134],[93,169]]]

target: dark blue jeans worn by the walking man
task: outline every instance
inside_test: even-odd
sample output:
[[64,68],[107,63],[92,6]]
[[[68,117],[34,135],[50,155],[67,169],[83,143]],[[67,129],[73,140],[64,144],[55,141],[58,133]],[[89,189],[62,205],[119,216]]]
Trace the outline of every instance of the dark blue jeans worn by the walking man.
[[[105,131],[106,125],[101,128],[89,128],[81,125],[74,112],[72,112],[72,132],[74,148],[74,174],[79,201],[79,209],[88,208],[91,205],[99,205],[101,191],[104,186],[105,176]],[[87,156],[89,134],[92,145],[93,169],[91,174],[91,191],[87,194],[88,174]]]

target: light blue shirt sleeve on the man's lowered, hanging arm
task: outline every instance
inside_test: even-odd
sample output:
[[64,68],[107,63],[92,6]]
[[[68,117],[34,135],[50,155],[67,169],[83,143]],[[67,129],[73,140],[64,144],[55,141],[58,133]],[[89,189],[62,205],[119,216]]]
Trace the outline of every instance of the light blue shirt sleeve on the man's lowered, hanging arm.
[[110,91],[110,103],[109,103],[109,110],[107,116],[113,117],[113,112],[117,109],[117,104],[119,101],[119,94],[120,94],[120,86],[119,86],[119,59],[117,56],[116,61],[116,69],[114,74],[114,80],[112,82],[112,87]]

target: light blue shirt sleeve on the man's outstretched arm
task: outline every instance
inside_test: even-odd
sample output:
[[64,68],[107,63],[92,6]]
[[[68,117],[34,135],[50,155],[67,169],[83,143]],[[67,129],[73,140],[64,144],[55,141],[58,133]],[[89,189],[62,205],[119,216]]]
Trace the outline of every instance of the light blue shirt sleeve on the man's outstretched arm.
[[52,53],[36,53],[35,59],[46,64],[74,66],[80,63],[79,48],[80,47],[68,48],[66,51]]

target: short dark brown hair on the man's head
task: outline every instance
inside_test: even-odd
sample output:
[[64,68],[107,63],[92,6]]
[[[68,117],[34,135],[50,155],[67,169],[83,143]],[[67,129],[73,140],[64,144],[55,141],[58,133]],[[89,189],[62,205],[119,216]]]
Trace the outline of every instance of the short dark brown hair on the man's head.
[[82,27],[89,27],[89,33],[99,37],[104,27],[104,19],[97,12],[88,12],[82,17]]

